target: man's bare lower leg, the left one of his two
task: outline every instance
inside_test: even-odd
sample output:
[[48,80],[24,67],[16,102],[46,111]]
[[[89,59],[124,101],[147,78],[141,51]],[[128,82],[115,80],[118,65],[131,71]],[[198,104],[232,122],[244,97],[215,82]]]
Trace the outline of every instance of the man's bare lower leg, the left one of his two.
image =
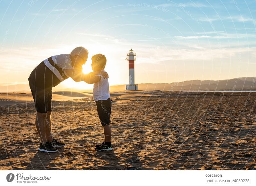
[[46,113],[36,112],[36,130],[41,138],[42,144],[47,142],[45,136],[45,119]]

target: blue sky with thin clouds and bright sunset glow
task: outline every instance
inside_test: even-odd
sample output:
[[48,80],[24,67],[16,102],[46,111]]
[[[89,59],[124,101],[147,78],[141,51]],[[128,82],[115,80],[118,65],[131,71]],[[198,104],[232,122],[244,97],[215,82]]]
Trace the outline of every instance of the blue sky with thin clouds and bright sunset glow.
[[[131,47],[136,83],[252,77],[255,15],[254,0],[2,0],[0,84],[27,84],[39,62],[76,46],[107,57],[111,85],[128,83]],[[72,80],[61,86],[90,87]]]

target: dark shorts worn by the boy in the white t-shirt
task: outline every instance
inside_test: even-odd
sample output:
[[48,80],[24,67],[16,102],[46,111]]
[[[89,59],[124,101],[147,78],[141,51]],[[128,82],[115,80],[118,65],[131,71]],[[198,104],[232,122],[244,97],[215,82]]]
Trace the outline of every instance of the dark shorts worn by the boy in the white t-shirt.
[[110,125],[110,115],[111,115],[111,100],[99,100],[96,101],[97,111],[100,118],[100,123],[102,126]]

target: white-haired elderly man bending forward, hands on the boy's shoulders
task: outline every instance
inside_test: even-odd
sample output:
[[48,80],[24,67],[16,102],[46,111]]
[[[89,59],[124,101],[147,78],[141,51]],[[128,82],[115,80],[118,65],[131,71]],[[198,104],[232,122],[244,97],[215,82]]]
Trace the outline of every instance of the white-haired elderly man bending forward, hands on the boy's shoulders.
[[65,146],[52,136],[52,87],[71,77],[74,81],[87,81],[91,75],[101,74],[108,77],[105,72],[82,73],[82,65],[88,58],[88,50],[76,47],[70,54],[52,56],[42,61],[30,74],[29,87],[36,105],[36,129],[41,138],[39,151],[57,152],[55,147]]

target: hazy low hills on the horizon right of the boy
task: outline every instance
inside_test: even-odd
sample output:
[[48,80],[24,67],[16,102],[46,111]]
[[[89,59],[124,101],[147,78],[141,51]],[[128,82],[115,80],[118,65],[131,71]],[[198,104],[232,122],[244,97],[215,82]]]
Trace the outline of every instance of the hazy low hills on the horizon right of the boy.
[[[175,91],[221,91],[221,90],[256,90],[256,84],[252,87],[255,77],[241,77],[229,80],[190,80],[177,83],[141,83],[138,84],[139,90],[175,90]],[[110,91],[122,91],[125,85],[110,86]]]

